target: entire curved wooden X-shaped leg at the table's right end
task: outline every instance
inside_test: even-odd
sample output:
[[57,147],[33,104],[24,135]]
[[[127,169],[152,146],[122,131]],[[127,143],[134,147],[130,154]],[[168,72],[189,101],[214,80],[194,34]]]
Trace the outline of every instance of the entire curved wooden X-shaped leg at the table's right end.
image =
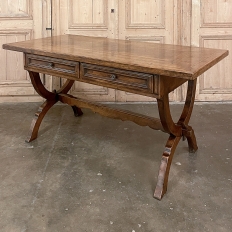
[[187,138],[190,152],[195,152],[197,150],[194,130],[188,125],[194,105],[195,91],[196,80],[189,81],[185,105],[177,124],[173,122],[171,117],[168,94],[164,95],[161,99],[157,99],[161,123],[164,130],[170,134],[162,155],[158,182],[154,193],[154,197],[158,200],[161,200],[167,191],[172,158],[181,136]]

